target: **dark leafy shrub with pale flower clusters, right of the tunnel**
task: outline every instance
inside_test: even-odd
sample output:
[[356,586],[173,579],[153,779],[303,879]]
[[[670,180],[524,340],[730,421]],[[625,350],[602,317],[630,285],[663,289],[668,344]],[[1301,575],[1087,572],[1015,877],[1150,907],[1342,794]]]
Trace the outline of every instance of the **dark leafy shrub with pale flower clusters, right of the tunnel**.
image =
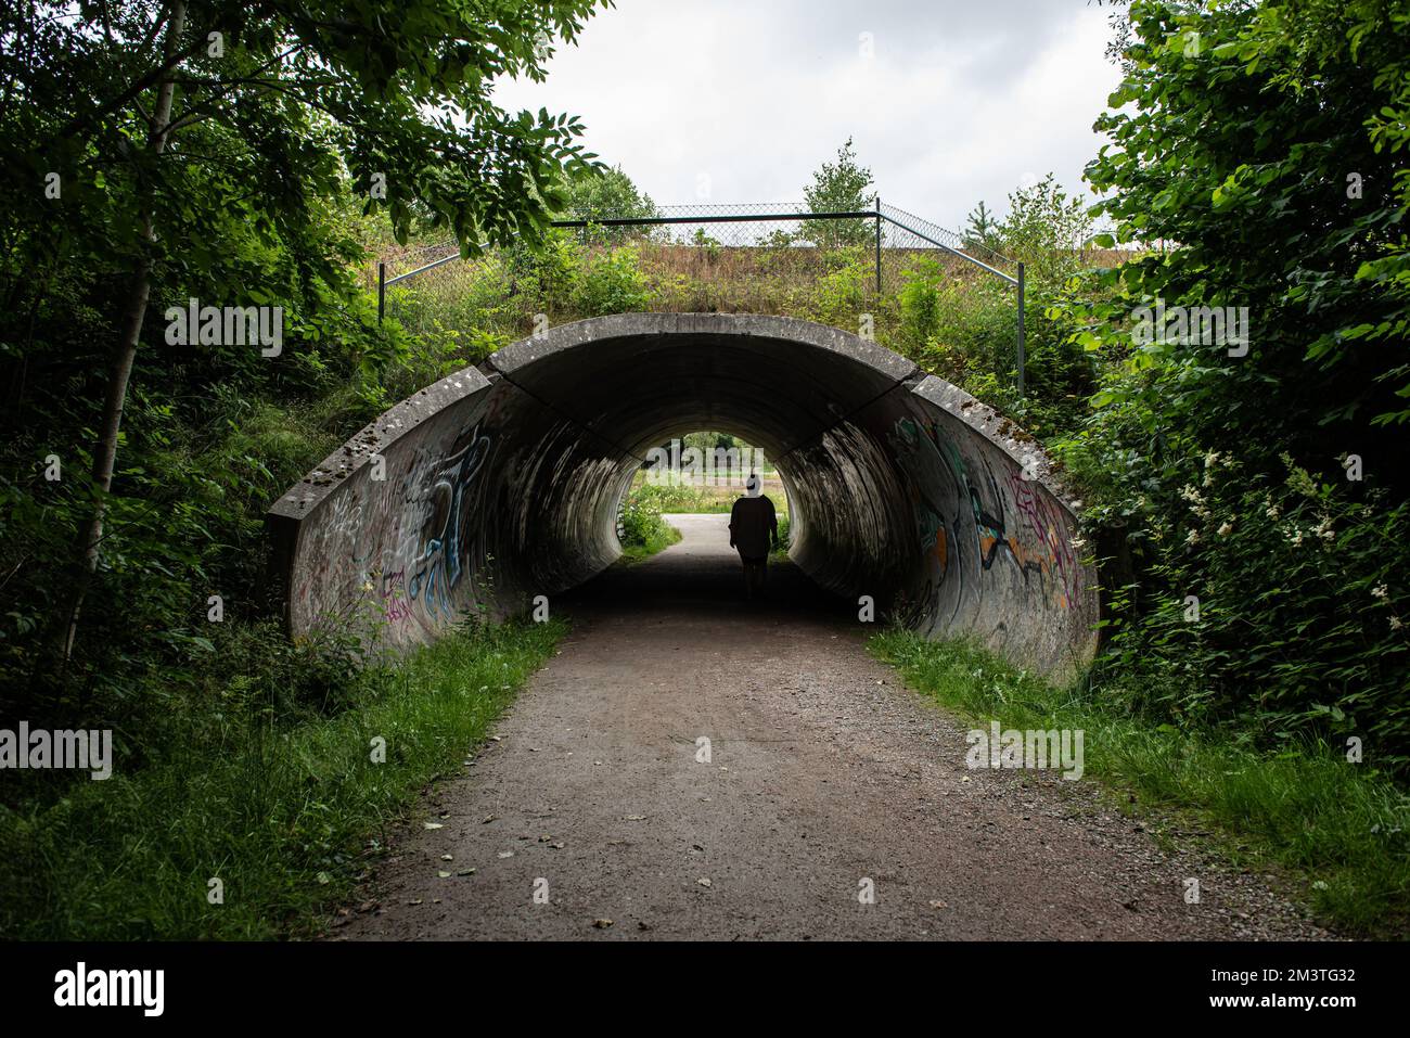
[[1285,465],[1277,482],[1211,451],[1198,480],[1144,484],[1125,522],[1145,574],[1103,666],[1138,709],[1273,745],[1358,736],[1404,770],[1410,505]]

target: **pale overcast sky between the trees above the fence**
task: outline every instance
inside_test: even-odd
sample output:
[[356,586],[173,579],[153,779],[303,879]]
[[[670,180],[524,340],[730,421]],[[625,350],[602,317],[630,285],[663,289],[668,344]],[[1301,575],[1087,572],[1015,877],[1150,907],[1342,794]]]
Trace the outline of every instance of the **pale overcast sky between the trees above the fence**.
[[1089,0],[618,0],[558,45],[546,83],[495,96],[581,116],[588,147],[657,204],[801,200],[852,137],[883,202],[955,228],[1049,171],[1091,197],[1091,124],[1120,80],[1108,14]]

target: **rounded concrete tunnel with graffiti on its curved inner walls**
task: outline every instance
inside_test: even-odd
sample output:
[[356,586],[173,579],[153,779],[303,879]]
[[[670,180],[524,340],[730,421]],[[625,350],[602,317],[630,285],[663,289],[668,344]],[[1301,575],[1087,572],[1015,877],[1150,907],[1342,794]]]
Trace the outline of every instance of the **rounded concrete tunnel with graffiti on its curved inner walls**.
[[1007,419],[857,336],[790,317],[630,313],[517,341],[398,403],[279,498],[292,635],[350,616],[399,646],[565,591],[620,553],[647,451],[723,430],[792,505],[794,563],[926,636],[1062,680],[1096,649],[1079,502]]

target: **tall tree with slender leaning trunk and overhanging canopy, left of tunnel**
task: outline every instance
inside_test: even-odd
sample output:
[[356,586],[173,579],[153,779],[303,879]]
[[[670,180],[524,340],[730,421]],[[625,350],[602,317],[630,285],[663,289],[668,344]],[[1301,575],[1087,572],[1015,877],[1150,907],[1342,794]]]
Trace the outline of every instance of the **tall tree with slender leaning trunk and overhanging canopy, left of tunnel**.
[[[271,245],[306,241],[321,199],[348,181],[399,240],[413,212],[448,227],[467,254],[537,238],[594,157],[575,118],[510,114],[491,85],[541,80],[551,41],[575,41],[598,6],[409,0],[393,14],[336,0],[137,0],[28,3],[0,16],[4,176],[63,230],[35,244],[34,214],[11,213],[6,247],[24,243],[37,268],[116,261],[128,271],[90,451],[92,513],[59,625],[63,657],[102,553],[154,271],[221,286],[202,302],[261,303],[261,285],[212,247],[212,224],[234,216]],[[327,262],[300,260],[309,276]],[[316,324],[317,315],[299,317]]]

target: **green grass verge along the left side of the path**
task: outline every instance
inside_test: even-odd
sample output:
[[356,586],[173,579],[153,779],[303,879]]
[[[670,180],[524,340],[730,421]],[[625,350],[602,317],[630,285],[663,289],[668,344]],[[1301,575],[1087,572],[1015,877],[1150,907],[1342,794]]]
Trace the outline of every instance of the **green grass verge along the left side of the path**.
[[[123,941],[307,934],[351,893],[417,793],[461,762],[553,653],[561,621],[457,633],[333,718],[79,781],[0,812],[0,936]],[[386,740],[374,763],[372,740]],[[371,841],[371,843],[369,843]],[[224,883],[209,904],[207,883]]]

